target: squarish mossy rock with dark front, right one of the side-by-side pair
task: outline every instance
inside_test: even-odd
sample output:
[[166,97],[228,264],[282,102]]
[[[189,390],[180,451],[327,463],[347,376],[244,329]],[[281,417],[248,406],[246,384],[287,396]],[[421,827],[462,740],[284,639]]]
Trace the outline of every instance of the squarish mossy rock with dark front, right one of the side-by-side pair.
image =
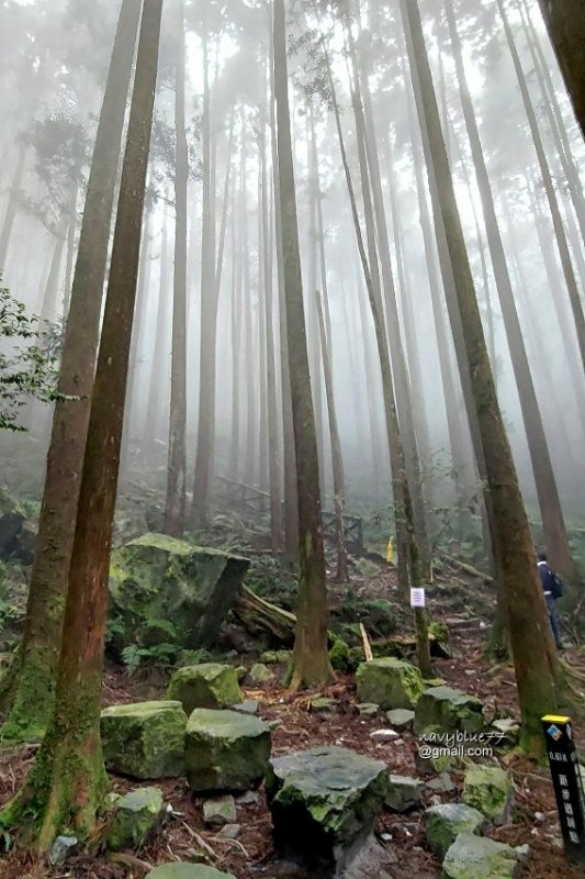
[[194,791],[246,791],[262,781],[270,727],[238,711],[195,709],[185,732],[187,780]]

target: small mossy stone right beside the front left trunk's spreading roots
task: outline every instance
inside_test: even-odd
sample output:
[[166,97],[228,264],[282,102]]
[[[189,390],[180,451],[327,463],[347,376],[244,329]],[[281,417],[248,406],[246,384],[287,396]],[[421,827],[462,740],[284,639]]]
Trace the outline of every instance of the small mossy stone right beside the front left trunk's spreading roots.
[[140,848],[157,828],[164,814],[162,791],[138,788],[114,801],[115,814],[110,824],[106,845],[112,852]]

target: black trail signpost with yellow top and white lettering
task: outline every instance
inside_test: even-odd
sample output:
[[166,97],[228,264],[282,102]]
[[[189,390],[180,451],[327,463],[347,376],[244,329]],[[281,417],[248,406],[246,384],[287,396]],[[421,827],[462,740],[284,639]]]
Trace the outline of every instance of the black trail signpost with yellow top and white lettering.
[[585,794],[571,717],[547,714],[542,728],[566,857],[585,864]]

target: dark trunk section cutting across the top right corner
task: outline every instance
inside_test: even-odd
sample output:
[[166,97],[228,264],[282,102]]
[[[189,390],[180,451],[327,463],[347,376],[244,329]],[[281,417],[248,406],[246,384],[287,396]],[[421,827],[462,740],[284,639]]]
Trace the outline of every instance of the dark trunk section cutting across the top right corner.
[[585,136],[585,81],[583,78],[583,46],[585,16],[581,0],[539,0],[540,11],[556,53],[566,90]]

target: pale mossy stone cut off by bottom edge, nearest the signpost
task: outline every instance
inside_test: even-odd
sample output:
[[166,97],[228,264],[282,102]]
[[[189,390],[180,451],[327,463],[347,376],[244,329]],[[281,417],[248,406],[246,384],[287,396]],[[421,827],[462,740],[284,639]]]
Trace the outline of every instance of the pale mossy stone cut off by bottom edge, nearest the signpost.
[[509,845],[460,833],[445,856],[445,879],[515,879],[516,852]]

